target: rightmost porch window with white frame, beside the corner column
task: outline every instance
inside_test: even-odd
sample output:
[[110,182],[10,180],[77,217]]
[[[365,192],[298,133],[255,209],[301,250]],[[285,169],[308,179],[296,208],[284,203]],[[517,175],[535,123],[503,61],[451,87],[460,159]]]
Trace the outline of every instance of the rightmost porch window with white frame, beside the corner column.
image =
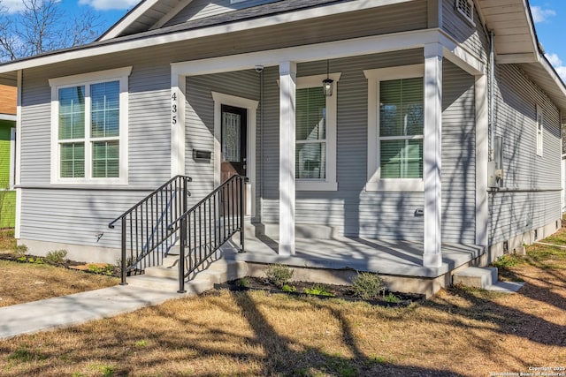
[[368,191],[423,191],[423,65],[364,72],[368,79]]

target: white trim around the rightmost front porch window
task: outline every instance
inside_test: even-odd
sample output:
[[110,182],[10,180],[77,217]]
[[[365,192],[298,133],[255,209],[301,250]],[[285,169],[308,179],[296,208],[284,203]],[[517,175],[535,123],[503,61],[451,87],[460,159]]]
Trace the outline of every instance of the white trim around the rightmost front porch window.
[[378,106],[379,81],[424,78],[424,64],[366,70],[363,71],[363,74],[368,79],[368,170],[365,190],[369,192],[424,192],[423,178],[381,178]]

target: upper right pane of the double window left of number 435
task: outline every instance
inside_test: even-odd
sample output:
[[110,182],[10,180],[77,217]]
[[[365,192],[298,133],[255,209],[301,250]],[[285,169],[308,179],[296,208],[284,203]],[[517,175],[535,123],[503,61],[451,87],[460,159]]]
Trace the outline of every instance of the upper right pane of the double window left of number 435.
[[119,136],[119,81],[93,84],[91,135],[93,138]]

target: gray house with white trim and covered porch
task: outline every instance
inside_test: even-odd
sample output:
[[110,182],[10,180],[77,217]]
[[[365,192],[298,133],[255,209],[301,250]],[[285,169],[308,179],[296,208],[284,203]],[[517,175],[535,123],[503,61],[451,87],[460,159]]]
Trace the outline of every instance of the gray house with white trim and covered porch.
[[259,257],[252,239],[249,262],[436,290],[561,226],[566,87],[524,0],[145,0],[0,78],[19,88],[31,253],[113,262],[114,218],[177,175],[190,205],[234,171],[247,222],[277,240]]

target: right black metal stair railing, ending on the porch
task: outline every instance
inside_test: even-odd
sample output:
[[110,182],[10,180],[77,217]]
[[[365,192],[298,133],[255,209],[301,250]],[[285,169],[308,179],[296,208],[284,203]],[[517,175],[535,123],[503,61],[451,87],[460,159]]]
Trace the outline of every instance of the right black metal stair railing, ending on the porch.
[[169,225],[180,234],[179,292],[185,279],[220,246],[240,232],[240,253],[244,253],[244,188],[248,178],[230,177],[203,200]]

